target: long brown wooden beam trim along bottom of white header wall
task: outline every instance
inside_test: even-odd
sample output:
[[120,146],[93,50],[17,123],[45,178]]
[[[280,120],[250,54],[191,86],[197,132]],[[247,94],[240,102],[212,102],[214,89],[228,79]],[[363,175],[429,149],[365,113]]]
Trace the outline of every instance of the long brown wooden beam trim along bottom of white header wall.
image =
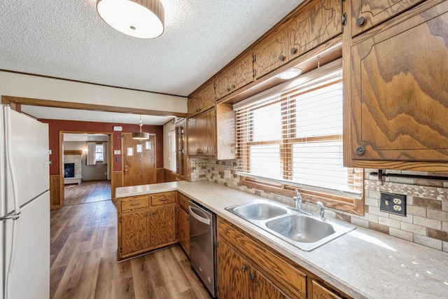
[[118,107],[118,106],[106,106],[97,104],[85,104],[85,103],[74,103],[74,102],[62,102],[62,101],[52,101],[49,99],[32,99],[28,97],[10,97],[7,95],[1,96],[1,104],[22,104],[30,106],[46,106],[54,108],[66,108],[66,109],[80,109],[80,110],[91,110],[91,111],[106,111],[106,112],[118,112],[118,113],[133,113],[133,114],[143,114],[151,116],[176,116],[179,118],[185,118],[187,113],[179,113],[173,111],[157,111],[148,109],[137,109],[128,107]]

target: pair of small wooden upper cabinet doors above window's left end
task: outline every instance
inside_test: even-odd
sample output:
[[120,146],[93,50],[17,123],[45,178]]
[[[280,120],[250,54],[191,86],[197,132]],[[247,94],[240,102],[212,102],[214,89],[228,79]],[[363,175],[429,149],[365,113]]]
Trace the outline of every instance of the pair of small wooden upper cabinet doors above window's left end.
[[215,97],[221,99],[253,81],[253,55],[249,53],[232,62],[215,78]]

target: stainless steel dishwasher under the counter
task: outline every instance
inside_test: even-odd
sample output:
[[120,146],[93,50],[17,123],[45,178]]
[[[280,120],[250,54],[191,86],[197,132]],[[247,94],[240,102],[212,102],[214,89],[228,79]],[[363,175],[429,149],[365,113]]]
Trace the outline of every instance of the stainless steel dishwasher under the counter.
[[209,292],[216,297],[216,214],[190,200],[190,261]]

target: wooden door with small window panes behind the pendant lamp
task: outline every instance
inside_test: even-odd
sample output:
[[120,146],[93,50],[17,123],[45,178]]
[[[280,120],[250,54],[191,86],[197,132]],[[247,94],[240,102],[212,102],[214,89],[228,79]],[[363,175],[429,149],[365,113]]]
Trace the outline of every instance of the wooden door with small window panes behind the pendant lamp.
[[132,139],[132,134],[122,134],[123,186],[157,183],[155,165],[155,135],[147,140]]

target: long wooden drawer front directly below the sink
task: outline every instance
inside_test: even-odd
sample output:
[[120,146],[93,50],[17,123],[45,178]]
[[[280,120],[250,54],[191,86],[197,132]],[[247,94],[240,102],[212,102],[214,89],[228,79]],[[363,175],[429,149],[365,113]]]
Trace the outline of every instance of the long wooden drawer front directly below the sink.
[[279,253],[269,249],[241,232],[239,228],[218,218],[218,237],[246,254],[249,263],[255,265],[274,284],[287,295],[306,298],[307,275],[301,272],[290,260],[281,258]]

